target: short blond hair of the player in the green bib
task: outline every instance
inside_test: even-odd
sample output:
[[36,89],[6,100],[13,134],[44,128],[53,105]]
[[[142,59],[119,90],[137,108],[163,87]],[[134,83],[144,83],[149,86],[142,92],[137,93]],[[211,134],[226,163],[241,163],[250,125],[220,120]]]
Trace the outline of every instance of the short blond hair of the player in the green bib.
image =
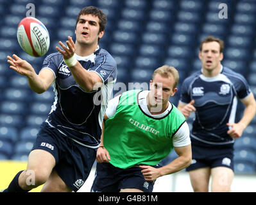
[[160,76],[163,77],[173,78],[175,80],[173,88],[176,88],[176,86],[178,85],[178,80],[180,79],[180,76],[178,74],[178,70],[176,70],[175,67],[169,65],[163,65],[162,67],[159,67],[153,72],[152,81],[154,80],[156,74],[160,74]]

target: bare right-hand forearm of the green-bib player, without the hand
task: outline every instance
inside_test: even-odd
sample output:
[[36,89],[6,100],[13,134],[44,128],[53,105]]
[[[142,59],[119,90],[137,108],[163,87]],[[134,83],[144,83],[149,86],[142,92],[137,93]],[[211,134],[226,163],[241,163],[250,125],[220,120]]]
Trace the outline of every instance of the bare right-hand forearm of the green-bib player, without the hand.
[[191,157],[189,156],[179,156],[175,160],[171,161],[168,165],[159,168],[160,176],[167,174],[173,174],[182,170],[183,168],[188,167],[191,164]]

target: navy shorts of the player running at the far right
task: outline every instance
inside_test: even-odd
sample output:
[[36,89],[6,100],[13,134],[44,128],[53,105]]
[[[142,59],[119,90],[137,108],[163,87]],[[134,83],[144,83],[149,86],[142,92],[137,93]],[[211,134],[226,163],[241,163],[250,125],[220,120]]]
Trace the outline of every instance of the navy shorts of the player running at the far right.
[[234,148],[228,145],[199,145],[191,138],[192,162],[186,170],[189,172],[203,167],[228,167],[234,171]]

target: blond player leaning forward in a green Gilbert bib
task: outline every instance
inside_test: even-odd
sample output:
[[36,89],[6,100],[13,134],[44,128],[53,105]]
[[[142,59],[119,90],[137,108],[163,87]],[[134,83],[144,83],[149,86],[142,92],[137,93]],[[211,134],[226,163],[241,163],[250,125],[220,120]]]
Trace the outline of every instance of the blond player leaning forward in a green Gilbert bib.
[[[169,102],[178,78],[164,65],[153,73],[150,91],[130,90],[109,102],[92,192],[152,192],[158,177],[191,163],[189,127]],[[178,158],[159,167],[173,147]]]

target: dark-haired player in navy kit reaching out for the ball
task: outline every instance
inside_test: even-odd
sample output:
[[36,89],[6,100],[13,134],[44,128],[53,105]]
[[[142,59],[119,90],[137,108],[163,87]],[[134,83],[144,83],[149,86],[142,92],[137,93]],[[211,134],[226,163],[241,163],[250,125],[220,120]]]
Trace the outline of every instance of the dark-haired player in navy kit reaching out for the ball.
[[[27,169],[4,192],[28,192],[43,183],[42,192],[76,192],[89,176],[116,78],[114,58],[98,46],[106,22],[98,8],[83,8],[76,21],[75,44],[71,37],[68,47],[60,42],[64,50],[56,47],[59,52],[46,57],[38,75],[27,61],[15,54],[8,56],[10,67],[28,78],[34,92],[45,92],[53,83],[56,97],[40,127]],[[31,173],[34,183],[28,183]]]

